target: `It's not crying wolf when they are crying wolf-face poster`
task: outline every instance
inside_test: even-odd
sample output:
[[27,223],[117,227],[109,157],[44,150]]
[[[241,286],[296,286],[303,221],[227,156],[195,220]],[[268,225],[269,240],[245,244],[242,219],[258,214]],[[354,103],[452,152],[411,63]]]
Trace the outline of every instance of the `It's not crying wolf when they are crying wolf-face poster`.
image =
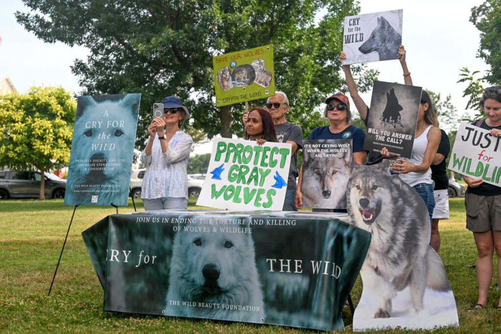
[[346,209],[351,139],[305,140],[303,145],[303,207]]

